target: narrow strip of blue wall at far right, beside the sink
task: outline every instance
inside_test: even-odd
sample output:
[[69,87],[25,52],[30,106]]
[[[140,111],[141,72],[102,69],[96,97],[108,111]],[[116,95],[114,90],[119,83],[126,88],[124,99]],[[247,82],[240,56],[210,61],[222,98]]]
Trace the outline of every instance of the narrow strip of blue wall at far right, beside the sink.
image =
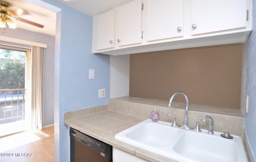
[[256,4],[253,0],[253,27],[247,41],[246,53],[246,95],[248,100],[248,113],[245,114],[245,132],[256,161]]

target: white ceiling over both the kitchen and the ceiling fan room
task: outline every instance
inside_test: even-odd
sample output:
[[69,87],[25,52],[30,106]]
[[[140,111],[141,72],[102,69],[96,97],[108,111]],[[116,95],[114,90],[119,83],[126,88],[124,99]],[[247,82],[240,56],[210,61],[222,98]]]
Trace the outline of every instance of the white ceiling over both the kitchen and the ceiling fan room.
[[[17,8],[22,8],[26,10],[28,13],[19,16],[20,18],[36,22],[38,24],[44,25],[44,28],[39,28],[30,24],[26,24],[24,22],[20,22],[12,18],[12,20],[17,23],[17,28],[29,30],[32,32],[38,32],[42,34],[47,34],[50,36],[55,36],[56,29],[56,13],[40,6],[36,6],[30,2],[26,2],[25,0],[0,0],[10,4],[11,10],[16,10]],[[70,6],[84,14],[95,16],[116,8],[122,4],[126,4],[132,0],[57,0],[66,6]],[[0,28],[1,30],[2,28]],[[8,27],[5,32],[9,32]],[[2,31],[0,31],[2,32]]]

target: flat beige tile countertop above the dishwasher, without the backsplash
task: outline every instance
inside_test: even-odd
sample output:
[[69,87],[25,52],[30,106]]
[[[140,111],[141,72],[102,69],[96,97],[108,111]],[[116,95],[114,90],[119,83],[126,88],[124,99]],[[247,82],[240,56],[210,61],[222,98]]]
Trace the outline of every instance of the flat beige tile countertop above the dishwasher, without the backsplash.
[[132,155],[136,155],[144,160],[149,160],[151,162],[175,162],[176,160],[149,152],[148,150],[138,148],[115,139],[115,135],[117,133],[121,132],[122,130],[126,130],[127,128],[130,128],[144,120],[146,120],[146,118],[106,110],[78,118],[68,119],[64,121],[64,124],[76,130],[80,130],[80,132],[92,136],[93,138],[110,144],[113,147],[119,148],[120,150],[128,152]]

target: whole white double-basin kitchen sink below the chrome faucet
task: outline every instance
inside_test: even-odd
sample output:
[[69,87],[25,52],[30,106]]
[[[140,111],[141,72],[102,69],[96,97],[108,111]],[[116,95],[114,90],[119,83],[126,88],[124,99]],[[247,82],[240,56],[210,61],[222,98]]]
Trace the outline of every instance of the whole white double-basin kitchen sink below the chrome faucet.
[[247,162],[242,138],[172,127],[168,122],[144,120],[118,134],[117,140],[182,162]]

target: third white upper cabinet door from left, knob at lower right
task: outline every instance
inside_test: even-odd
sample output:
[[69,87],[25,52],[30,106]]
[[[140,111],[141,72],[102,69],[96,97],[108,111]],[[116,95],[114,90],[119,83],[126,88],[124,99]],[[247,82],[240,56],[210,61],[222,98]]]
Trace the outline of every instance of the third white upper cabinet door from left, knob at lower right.
[[183,36],[183,0],[147,0],[146,39]]

